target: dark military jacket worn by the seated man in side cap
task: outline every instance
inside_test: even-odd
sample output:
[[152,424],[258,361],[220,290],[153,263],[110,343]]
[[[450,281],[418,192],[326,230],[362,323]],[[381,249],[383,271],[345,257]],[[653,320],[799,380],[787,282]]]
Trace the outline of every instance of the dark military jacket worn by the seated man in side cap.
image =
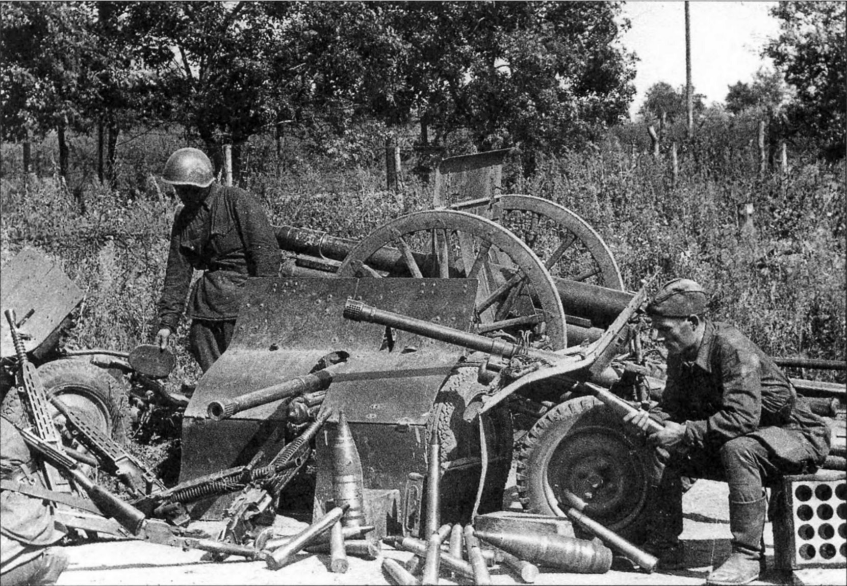
[[827,424],[776,363],[726,323],[706,320],[693,361],[668,357],[662,401],[652,412],[684,423],[684,445],[695,449],[753,435],[787,470],[820,465],[829,451]]

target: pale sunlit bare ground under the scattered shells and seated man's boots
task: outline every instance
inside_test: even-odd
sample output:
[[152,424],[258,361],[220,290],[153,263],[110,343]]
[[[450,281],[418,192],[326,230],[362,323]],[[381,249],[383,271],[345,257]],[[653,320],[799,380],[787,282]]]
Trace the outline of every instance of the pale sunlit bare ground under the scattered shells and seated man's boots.
[[[512,477],[513,478],[513,477]],[[513,489],[507,489],[512,495]],[[689,568],[678,572],[624,572],[612,570],[604,574],[574,574],[541,568],[536,584],[702,584],[713,564],[719,564],[729,553],[727,485],[699,480],[684,495],[684,533],[686,561]],[[517,506],[511,503],[510,508]],[[290,517],[277,517],[280,528],[290,533],[305,528],[307,523]],[[194,526],[214,534],[219,523],[197,522]],[[773,566],[773,533],[765,528],[768,571],[754,584],[844,584],[844,568],[805,569],[793,573],[776,572]],[[328,555],[302,554],[279,571],[269,570],[264,561],[242,561],[230,558],[214,563],[202,561],[202,551],[182,551],[164,545],[139,541],[101,541],[66,548],[70,565],[58,579],[60,586],[70,584],[391,584],[382,570],[382,560],[365,561],[348,557],[346,573],[329,572]],[[384,545],[382,555],[407,561],[411,554]],[[520,584],[521,578],[506,567],[491,568],[494,584]],[[468,580],[448,578],[442,572],[442,584],[469,584]]]

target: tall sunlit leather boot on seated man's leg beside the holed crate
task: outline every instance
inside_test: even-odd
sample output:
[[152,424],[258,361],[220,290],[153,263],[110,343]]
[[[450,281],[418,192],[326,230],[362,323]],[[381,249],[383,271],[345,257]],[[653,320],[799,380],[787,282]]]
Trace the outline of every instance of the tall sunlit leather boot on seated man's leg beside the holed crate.
[[767,499],[752,502],[729,501],[729,530],[733,533],[732,553],[706,578],[713,586],[736,586],[759,578],[764,559],[762,532],[765,528]]

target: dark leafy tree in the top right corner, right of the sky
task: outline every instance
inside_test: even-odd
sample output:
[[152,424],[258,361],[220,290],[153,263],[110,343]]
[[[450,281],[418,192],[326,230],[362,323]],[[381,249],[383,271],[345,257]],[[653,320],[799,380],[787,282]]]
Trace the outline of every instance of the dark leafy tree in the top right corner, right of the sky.
[[763,55],[796,89],[789,107],[795,132],[816,139],[829,159],[844,158],[847,132],[847,46],[844,3],[781,2],[771,9],[780,34]]

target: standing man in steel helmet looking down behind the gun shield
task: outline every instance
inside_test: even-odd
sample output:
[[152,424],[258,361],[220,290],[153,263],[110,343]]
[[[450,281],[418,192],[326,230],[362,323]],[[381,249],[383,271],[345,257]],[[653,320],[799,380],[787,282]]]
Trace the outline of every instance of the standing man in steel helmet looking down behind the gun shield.
[[246,280],[279,274],[280,247],[257,199],[215,182],[212,162],[202,151],[174,152],[162,179],[174,185],[184,205],[170,234],[156,341],[168,346],[185,312],[192,272],[202,271],[187,313],[191,356],[206,372],[230,344]]

